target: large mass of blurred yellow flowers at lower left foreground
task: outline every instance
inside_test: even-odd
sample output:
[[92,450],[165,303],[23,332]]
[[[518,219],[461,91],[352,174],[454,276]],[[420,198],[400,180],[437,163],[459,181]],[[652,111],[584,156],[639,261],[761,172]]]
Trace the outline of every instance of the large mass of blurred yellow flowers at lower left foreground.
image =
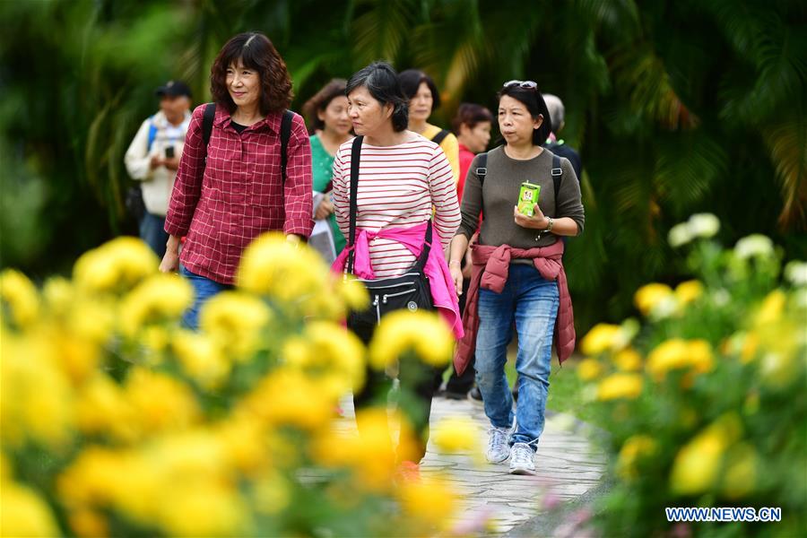
[[192,289],[157,266],[120,238],[72,280],[0,275],[0,534],[451,532],[444,482],[396,480],[386,410],[366,412],[360,440],[334,427],[368,361],[450,360],[436,316],[385,318],[368,350],[340,321],[367,303],[360,284],[267,234],[194,333]]

